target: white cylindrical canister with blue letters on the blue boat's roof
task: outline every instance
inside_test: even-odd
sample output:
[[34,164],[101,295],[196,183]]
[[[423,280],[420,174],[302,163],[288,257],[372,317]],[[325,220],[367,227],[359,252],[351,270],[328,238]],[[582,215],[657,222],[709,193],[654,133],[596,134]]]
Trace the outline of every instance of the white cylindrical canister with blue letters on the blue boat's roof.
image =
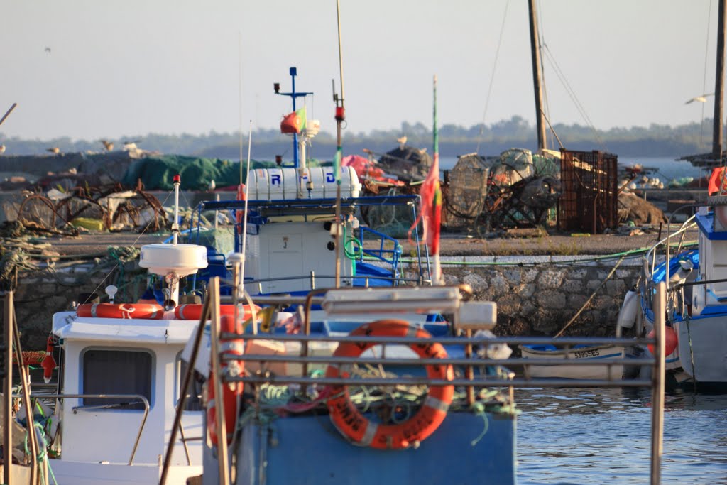
[[[336,196],[333,167],[255,169],[249,174],[248,197],[258,201],[332,199]],[[341,167],[341,196],[358,197],[361,184],[352,167]]]

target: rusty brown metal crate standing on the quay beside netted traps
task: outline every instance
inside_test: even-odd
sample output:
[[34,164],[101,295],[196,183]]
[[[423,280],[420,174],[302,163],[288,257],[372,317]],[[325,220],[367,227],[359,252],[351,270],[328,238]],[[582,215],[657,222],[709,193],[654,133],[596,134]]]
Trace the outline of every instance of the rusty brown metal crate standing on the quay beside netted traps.
[[613,153],[561,149],[558,229],[596,234],[616,227],[617,161]]

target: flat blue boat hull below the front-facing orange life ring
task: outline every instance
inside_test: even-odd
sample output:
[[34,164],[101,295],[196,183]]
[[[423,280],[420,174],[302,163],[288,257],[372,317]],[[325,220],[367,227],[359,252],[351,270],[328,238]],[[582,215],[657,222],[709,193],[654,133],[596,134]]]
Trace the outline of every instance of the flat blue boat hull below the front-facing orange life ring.
[[[486,422],[450,412],[418,449],[405,450],[349,444],[325,414],[250,423],[242,431],[235,483],[515,484],[515,417],[485,416]],[[204,483],[217,484],[217,462],[206,451]]]

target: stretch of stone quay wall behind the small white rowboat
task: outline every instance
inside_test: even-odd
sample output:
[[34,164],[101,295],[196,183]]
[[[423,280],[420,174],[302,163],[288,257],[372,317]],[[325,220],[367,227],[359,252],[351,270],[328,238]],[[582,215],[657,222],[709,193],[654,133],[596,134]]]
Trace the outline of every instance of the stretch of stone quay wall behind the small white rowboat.
[[[564,335],[613,336],[624,295],[642,268],[640,257],[624,259],[613,273],[618,260],[587,256],[443,257],[442,262],[446,284],[469,284],[476,300],[497,302],[494,333],[499,335],[555,335],[585,305]],[[411,270],[409,276],[414,277]]]

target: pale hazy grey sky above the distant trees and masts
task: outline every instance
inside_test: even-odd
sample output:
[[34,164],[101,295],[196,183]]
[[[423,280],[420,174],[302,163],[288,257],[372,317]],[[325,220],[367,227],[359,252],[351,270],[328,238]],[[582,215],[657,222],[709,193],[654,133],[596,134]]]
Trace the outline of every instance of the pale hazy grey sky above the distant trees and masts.
[[[538,7],[553,123],[587,124],[556,68],[599,129],[712,117],[713,97],[685,101],[714,91],[716,0]],[[289,98],[273,82],[289,91],[293,65],[297,89],[315,92],[308,117],[334,132],[335,0],[11,0],[1,11],[0,116],[18,103],[7,137],[276,127]],[[341,22],[348,130],[430,126],[435,74],[441,124],[534,121],[526,0],[341,0]]]

